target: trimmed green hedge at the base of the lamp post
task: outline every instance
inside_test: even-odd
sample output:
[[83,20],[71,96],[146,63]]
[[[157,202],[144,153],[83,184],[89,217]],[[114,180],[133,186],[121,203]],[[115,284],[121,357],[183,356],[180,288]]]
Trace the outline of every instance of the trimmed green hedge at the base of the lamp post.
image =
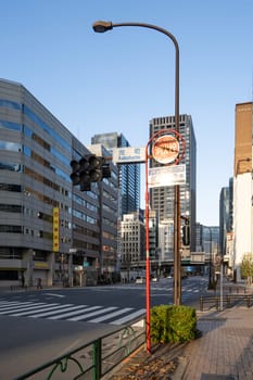
[[197,337],[195,309],[190,306],[153,306],[150,325],[153,343],[188,342]]

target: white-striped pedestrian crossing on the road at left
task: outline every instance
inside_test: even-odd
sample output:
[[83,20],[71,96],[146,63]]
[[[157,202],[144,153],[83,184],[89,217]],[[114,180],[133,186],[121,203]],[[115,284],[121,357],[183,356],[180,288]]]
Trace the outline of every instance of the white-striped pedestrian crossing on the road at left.
[[46,302],[0,300],[0,316],[47,318],[121,326],[146,314],[144,308],[91,306]]

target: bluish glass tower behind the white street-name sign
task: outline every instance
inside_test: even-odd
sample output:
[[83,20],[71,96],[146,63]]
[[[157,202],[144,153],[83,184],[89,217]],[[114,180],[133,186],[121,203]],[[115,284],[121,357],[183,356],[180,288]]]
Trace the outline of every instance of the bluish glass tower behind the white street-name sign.
[[[101,143],[111,153],[113,148],[130,147],[122,134],[94,135],[91,143]],[[118,165],[118,187],[121,189],[119,215],[136,212],[140,207],[140,164]]]

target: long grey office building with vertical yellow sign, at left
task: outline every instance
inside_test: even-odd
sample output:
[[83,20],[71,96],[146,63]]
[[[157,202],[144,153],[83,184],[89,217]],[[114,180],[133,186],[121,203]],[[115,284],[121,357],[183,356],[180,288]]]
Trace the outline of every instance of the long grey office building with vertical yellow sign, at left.
[[84,154],[89,150],[24,86],[0,80],[0,286],[23,278],[26,286],[39,278],[74,283],[84,267],[96,283],[109,253],[112,270],[117,170],[103,180],[106,195],[101,183],[81,192],[69,163]]

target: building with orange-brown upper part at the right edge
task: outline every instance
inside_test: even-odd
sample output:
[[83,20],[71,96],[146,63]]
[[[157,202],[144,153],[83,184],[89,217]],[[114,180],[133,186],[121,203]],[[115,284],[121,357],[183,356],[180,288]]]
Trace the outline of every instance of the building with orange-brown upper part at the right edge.
[[252,128],[253,103],[236,104],[233,166],[233,270],[240,279],[245,253],[253,251]]

